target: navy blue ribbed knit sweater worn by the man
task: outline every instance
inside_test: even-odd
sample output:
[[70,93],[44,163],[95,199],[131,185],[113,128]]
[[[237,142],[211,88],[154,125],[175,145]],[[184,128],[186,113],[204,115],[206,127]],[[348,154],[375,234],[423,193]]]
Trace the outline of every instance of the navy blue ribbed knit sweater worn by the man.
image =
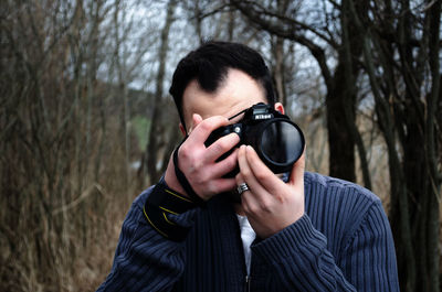
[[144,216],[150,191],[135,199],[98,291],[399,291],[387,216],[356,184],[305,173],[306,214],[252,244],[248,280],[238,218],[224,197],[177,216],[192,228],[175,242]]

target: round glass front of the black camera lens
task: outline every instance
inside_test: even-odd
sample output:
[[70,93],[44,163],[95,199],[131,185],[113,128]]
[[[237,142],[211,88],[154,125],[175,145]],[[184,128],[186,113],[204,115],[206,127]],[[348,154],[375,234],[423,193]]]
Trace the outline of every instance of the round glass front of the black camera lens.
[[262,131],[261,153],[276,169],[282,167],[280,171],[288,171],[301,156],[303,149],[304,137],[288,120],[273,120]]

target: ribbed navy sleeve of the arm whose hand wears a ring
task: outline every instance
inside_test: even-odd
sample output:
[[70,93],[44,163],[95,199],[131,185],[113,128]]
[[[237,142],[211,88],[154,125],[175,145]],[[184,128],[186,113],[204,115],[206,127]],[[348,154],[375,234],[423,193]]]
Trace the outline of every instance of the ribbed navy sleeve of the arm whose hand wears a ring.
[[[340,199],[339,206],[346,206],[346,198]],[[272,267],[277,277],[274,280],[281,281],[286,291],[399,291],[394,246],[380,201],[359,203],[365,204],[364,212],[337,208],[348,219],[344,230],[335,230],[345,236],[329,238],[339,240],[339,245],[327,242],[328,238],[304,215],[281,232],[253,245],[252,250]],[[325,208],[336,206],[327,204]],[[315,206],[315,212],[335,213],[320,210],[322,207]],[[329,221],[324,224],[333,226]],[[340,247],[335,252],[337,258],[328,246]]]

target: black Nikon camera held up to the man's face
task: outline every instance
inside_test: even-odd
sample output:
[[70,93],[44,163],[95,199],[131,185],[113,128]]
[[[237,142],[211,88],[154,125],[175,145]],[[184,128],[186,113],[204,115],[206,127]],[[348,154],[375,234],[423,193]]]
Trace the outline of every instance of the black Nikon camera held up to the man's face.
[[[235,147],[251,145],[273,173],[290,172],[293,164],[303,154],[305,147],[304,134],[299,127],[287,116],[262,102],[234,117],[243,112],[244,117],[238,123],[214,130],[204,142],[206,147],[221,137],[234,132],[240,137],[240,142]],[[225,159],[233,150],[221,155],[219,160]],[[233,177],[238,172],[236,169],[227,176]]]

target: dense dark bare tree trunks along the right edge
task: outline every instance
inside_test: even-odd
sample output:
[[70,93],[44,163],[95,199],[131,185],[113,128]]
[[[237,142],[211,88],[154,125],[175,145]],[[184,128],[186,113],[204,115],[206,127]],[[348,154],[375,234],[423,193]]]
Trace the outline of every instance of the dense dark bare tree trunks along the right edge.
[[412,4],[382,1],[367,11],[371,18],[354,18],[388,145],[401,286],[440,291],[441,2]]

